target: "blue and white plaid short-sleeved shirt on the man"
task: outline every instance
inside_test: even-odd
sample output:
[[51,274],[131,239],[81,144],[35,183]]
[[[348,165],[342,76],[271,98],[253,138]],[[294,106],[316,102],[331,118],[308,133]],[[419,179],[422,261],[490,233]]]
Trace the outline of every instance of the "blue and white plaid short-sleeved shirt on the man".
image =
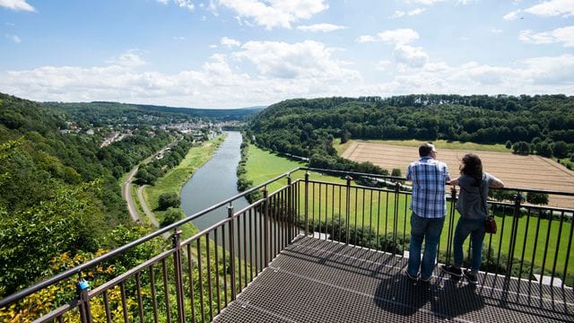
[[406,179],[413,181],[411,210],[423,218],[441,218],[447,214],[445,185],[450,177],[444,162],[422,157],[411,162],[406,170]]

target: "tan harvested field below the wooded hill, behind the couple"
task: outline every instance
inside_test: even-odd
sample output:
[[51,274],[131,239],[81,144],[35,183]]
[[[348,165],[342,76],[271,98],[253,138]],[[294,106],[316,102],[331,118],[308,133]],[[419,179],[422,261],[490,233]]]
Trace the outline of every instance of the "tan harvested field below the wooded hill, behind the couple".
[[[574,192],[574,171],[550,159],[535,155],[512,153],[466,152],[437,149],[437,158],[446,162],[451,177],[458,175],[458,165],[465,153],[476,153],[483,161],[483,170],[498,177],[507,187],[539,188]],[[385,170],[400,169],[405,175],[409,163],[419,159],[418,149],[391,144],[354,142],[342,154],[356,162],[372,162]],[[550,196],[552,206],[574,208],[571,196]]]

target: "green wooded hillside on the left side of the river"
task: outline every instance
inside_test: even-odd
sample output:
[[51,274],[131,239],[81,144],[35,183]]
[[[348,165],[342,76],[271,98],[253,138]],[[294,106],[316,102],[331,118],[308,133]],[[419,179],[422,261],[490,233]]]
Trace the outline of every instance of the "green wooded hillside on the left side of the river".
[[[0,298],[57,274],[56,267],[65,269],[54,262],[62,255],[88,257],[150,232],[131,223],[118,179],[169,144],[172,152],[163,163],[185,156],[191,139],[152,126],[194,118],[108,103],[45,104],[0,93]],[[96,127],[98,120],[107,127]],[[110,133],[124,136],[102,145]],[[116,267],[154,252],[140,251],[117,259]]]

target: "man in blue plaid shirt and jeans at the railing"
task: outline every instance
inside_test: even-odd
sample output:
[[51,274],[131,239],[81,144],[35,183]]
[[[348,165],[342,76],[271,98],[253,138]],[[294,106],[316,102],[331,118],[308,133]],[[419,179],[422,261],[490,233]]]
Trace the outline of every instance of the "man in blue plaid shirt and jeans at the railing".
[[[421,144],[419,155],[421,159],[412,162],[406,170],[406,179],[413,181],[411,244],[406,275],[415,282],[420,269],[421,280],[429,282],[437,258],[440,231],[447,214],[445,185],[450,178],[447,164],[436,160],[434,145]],[[422,240],[424,253],[421,261]]]

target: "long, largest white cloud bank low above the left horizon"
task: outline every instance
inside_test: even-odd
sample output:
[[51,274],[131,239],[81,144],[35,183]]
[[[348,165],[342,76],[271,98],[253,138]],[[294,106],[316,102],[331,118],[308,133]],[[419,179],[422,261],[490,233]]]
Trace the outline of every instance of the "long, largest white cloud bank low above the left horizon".
[[228,55],[209,57],[198,69],[176,74],[135,68],[143,58],[131,50],[102,66],[0,71],[0,89],[30,100],[169,102],[207,108],[238,108],[340,93],[360,95],[353,89],[362,83],[361,74],[346,67],[347,62],[335,59],[335,50],[314,41],[250,41]]

